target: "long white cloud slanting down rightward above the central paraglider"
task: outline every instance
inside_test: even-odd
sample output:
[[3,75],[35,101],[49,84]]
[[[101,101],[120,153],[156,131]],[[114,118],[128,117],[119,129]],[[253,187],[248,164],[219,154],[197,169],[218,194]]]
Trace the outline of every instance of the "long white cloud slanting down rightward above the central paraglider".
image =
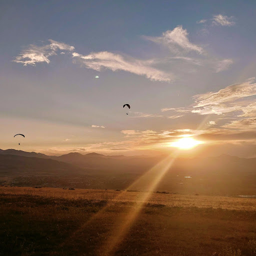
[[123,70],[138,75],[145,75],[151,80],[158,81],[171,81],[173,75],[165,73],[154,67],[150,66],[151,61],[135,59],[130,56],[122,56],[108,51],[92,52],[89,55],[81,55],[73,52],[73,57],[79,60],[87,68],[91,68],[97,71],[103,68],[110,69],[112,71]]

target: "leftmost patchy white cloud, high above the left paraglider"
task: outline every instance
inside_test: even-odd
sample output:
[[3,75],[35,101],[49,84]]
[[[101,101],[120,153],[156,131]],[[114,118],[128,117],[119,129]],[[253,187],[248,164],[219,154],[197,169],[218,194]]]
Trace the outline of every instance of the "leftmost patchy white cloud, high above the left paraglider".
[[29,47],[22,50],[21,53],[16,56],[13,61],[17,63],[23,63],[23,65],[35,65],[35,63],[37,62],[49,63],[49,57],[52,55],[56,55],[57,50],[74,50],[74,47],[68,44],[57,42],[51,39],[49,39],[48,41],[50,42],[50,44],[43,46],[36,46],[30,44]]

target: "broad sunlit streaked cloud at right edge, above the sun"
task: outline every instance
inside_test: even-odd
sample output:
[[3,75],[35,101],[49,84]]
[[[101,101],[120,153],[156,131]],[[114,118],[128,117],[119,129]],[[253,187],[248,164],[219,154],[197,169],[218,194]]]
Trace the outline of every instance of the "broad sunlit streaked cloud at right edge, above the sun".
[[[229,85],[217,92],[195,95],[192,113],[198,114],[229,114],[221,119],[233,119],[220,128],[252,130],[256,128],[256,103],[249,96],[256,95],[254,77],[244,82]],[[190,109],[190,108],[188,108]],[[232,114],[231,114],[232,113]],[[241,119],[240,117],[246,117]],[[215,125],[209,121],[206,125]]]

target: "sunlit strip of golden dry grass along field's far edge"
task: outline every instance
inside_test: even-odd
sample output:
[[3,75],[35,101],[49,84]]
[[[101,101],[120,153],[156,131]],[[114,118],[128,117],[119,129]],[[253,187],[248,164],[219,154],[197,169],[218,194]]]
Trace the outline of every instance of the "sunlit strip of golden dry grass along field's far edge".
[[[75,189],[62,188],[32,188],[32,187],[4,187],[0,186],[0,193],[29,194],[43,197],[57,197],[68,199],[96,199],[108,202],[137,202],[143,191],[115,191],[101,189]],[[152,192],[145,203],[164,204],[168,207],[198,207],[198,208],[222,208],[229,210],[256,210],[256,198],[236,198],[224,196],[182,195],[164,194]]]

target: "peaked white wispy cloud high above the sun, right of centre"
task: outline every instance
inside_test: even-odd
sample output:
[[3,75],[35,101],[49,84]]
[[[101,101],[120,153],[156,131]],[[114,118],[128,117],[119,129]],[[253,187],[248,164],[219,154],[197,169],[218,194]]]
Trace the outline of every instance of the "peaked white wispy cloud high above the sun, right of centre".
[[196,44],[193,44],[188,39],[188,33],[186,29],[183,29],[181,25],[175,27],[173,30],[167,30],[162,33],[162,36],[144,36],[144,38],[156,43],[161,43],[169,47],[172,52],[183,51],[196,51],[202,53],[203,49]]

